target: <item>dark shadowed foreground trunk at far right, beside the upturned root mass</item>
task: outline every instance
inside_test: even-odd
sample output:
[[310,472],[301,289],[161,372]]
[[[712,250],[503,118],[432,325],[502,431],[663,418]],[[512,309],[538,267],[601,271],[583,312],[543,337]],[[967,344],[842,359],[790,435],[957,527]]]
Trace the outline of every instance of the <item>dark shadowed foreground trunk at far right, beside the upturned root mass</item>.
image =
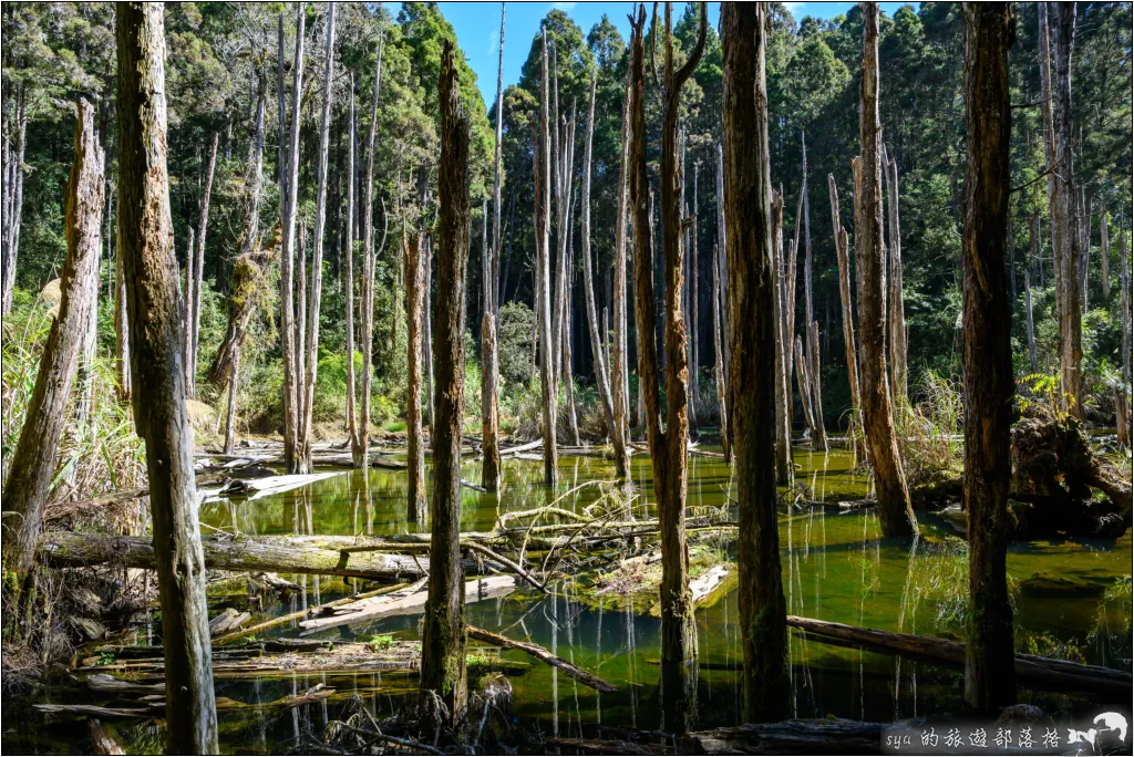
[[1016,701],[1006,573],[1015,377],[1005,269],[1012,186],[1008,48],[1014,26],[1008,6],[965,6],[965,699],[981,712],[999,712]]

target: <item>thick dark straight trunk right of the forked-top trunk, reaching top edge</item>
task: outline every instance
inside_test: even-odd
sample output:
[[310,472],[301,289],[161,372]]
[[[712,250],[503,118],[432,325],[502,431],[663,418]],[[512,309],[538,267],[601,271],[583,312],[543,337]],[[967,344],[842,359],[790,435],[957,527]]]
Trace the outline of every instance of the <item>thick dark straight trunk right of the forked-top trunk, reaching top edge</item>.
[[[723,45],[725,218],[728,290],[733,313],[733,424],[736,434],[738,562],[741,571],[741,678],[745,722],[788,717],[787,606],[780,578],[776,521],[776,380],[778,313],[773,308],[768,87],[764,74],[767,10],[725,3]],[[818,345],[815,346],[818,347]]]

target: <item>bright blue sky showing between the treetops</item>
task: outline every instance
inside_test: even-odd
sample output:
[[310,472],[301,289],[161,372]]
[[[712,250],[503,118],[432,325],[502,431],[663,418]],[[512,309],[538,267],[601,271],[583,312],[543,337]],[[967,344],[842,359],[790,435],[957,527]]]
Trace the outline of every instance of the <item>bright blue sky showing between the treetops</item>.
[[[500,54],[500,3],[499,2],[441,2],[441,12],[457,31],[457,40],[468,57],[468,63],[476,71],[477,84],[486,103],[496,99],[497,62]],[[787,2],[796,20],[804,16],[830,18],[846,12],[853,2]],[[904,3],[883,2],[882,10],[892,15]],[[685,11],[684,2],[674,3],[674,16],[679,18]],[[575,19],[583,33],[591,31],[603,14],[610,17],[624,37],[629,37],[627,15],[632,2],[509,2],[505,27],[503,85],[519,80],[519,69],[527,58],[532,39],[540,31],[540,22],[552,8],[566,11]],[[709,23],[713,26],[720,17],[720,3],[709,3]],[[491,104],[490,104],[491,109]]]

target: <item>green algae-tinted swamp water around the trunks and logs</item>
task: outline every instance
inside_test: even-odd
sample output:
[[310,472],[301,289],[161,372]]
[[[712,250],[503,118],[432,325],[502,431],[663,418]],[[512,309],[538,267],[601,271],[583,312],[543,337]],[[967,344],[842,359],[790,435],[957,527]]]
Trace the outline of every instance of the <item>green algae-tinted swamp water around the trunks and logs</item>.
[[[797,484],[807,499],[830,495],[848,500],[868,493],[868,483],[853,470],[841,451],[795,451]],[[498,495],[463,488],[462,529],[489,530],[499,513],[545,504],[552,496],[542,486],[542,463],[507,460],[505,485]],[[475,480],[479,463],[465,466]],[[652,470],[648,456],[633,458],[636,516],[653,513]],[[586,482],[612,482],[610,461],[593,457],[560,458],[561,495]],[[729,469],[720,460],[689,458],[688,507],[721,509],[728,504]],[[406,477],[397,470],[344,470],[310,486],[247,501],[211,502],[202,508],[208,529],[244,535],[375,535],[416,533],[406,521]],[[601,495],[584,486],[560,502],[582,510]],[[939,518],[919,513],[923,535],[915,539],[880,536],[872,510],[814,507],[780,517],[784,590],[790,614],[907,633],[962,639],[967,593],[964,543]],[[704,544],[699,539],[699,544]],[[625,542],[623,543],[625,544]],[[728,559],[726,539],[696,548],[716,548]],[[628,555],[627,555],[628,556]],[[1077,662],[1131,669],[1131,536],[1117,541],[1065,539],[1016,543],[1009,548],[1008,571],[1015,603],[1017,649]],[[735,569],[734,569],[735,570]],[[1052,597],[1026,590],[1022,581],[1052,575],[1083,590]],[[302,590],[284,602],[263,607],[263,616],[295,612],[355,589],[339,578],[288,577]],[[521,652],[506,652],[509,661],[527,664],[513,674],[513,717],[526,732],[547,735],[593,735],[596,726],[655,729],[659,723],[660,618],[649,610],[619,603],[617,597],[595,601],[587,576],[568,576],[540,594],[521,584],[513,594],[466,606],[471,624],[530,640],[615,683],[619,690],[600,695],[559,671],[534,662]],[[213,613],[226,606],[223,592],[211,595]],[[699,661],[696,705],[699,728],[737,723],[739,691],[739,628],[735,587],[719,593],[696,610]],[[313,638],[330,641],[370,640],[375,636],[418,639],[420,614],[378,619],[324,629]],[[272,629],[266,636],[297,637],[294,627]],[[160,623],[138,628],[138,643],[160,644]],[[257,637],[259,639],[265,636]],[[832,646],[792,632],[793,713],[798,717],[847,717],[894,721],[964,711],[964,679],[959,667],[942,666]],[[254,680],[220,679],[218,697],[246,704],[270,703],[324,683],[336,696],[285,712],[244,709],[220,715],[221,748],[226,752],[286,751],[305,737],[319,735],[339,717],[347,697],[357,695],[376,716],[399,712],[414,700],[416,678],[404,672],[365,671],[355,674],[301,674],[287,669]],[[476,681],[471,678],[471,690]],[[90,703],[90,695],[75,695]],[[60,701],[51,692],[44,697]],[[1049,714],[1093,712],[1100,704],[1019,687],[1021,701],[1036,704]],[[113,704],[113,703],[107,703]],[[84,731],[73,724],[43,729],[43,717],[26,707],[5,714],[6,739],[28,751],[82,751]],[[35,729],[27,729],[27,725]],[[119,734],[135,749],[160,745],[160,730],[150,724],[125,724]]]

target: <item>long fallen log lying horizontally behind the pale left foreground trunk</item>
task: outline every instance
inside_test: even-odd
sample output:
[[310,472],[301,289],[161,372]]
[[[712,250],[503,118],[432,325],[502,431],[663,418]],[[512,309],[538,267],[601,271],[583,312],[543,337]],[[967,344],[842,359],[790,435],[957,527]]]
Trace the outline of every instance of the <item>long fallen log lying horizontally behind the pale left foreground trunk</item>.
[[[313,546],[297,546],[286,537],[205,536],[201,539],[205,568],[232,571],[273,571],[314,576],[342,576],[373,581],[418,578],[429,572],[428,558],[367,552],[346,554]],[[153,544],[145,537],[49,531],[40,536],[40,560],[58,568],[113,563],[126,568],[156,564]]]

